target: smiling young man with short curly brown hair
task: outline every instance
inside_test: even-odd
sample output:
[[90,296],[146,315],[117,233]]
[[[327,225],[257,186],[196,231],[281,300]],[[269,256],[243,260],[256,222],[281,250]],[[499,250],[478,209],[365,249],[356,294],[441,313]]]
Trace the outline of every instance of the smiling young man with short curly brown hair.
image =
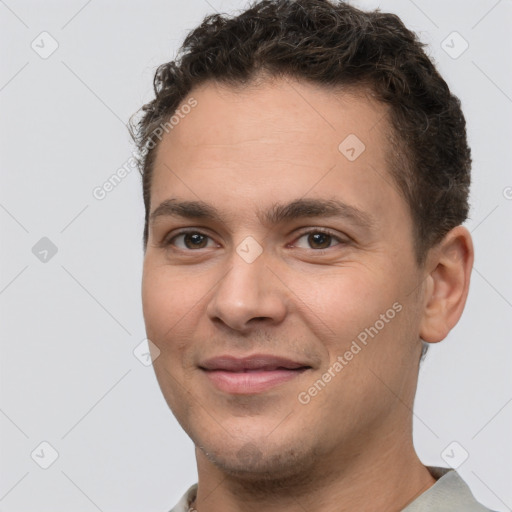
[[487,510],[412,443],[473,263],[464,117],[415,35],[262,1],[205,19],[155,94],[144,319],[199,476],[173,511]]

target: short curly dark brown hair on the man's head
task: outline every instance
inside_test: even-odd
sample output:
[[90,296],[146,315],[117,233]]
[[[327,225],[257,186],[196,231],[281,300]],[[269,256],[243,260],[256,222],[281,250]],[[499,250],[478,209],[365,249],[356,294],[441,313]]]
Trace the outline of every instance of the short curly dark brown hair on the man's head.
[[424,261],[467,218],[471,153],[460,101],[423,48],[396,15],[344,2],[261,0],[236,16],[207,16],[176,60],[158,67],[155,99],[130,120],[146,208],[144,247],[155,131],[204,82],[243,86],[264,74],[366,89],[388,106],[389,172],[410,207],[417,259]]

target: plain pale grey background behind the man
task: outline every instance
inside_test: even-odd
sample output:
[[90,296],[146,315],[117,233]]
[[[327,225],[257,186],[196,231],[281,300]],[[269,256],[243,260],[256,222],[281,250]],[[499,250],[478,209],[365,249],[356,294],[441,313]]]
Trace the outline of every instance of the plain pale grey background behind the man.
[[[512,3],[355,3],[420,33],[467,116],[476,263],[463,319],[421,370],[415,443],[427,464],[467,452],[477,498],[511,510]],[[166,511],[195,482],[192,444],[133,353],[140,178],[92,191],[130,157],[125,123],[155,67],[205,14],[244,5],[0,1],[1,511]]]

